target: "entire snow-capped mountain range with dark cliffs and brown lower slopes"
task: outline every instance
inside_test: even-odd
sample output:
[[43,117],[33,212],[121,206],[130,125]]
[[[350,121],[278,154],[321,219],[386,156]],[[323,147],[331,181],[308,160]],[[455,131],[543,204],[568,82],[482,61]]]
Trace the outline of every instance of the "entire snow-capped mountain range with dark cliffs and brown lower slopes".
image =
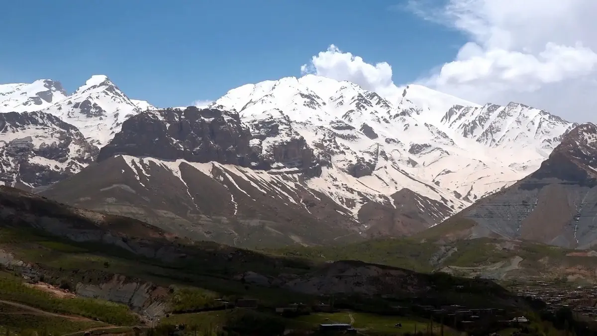
[[334,243],[475,207],[543,169],[576,126],[520,103],[420,85],[386,99],[315,75],[204,109],[155,108],[103,75],[72,94],[40,80],[0,85],[0,181],[193,239]]

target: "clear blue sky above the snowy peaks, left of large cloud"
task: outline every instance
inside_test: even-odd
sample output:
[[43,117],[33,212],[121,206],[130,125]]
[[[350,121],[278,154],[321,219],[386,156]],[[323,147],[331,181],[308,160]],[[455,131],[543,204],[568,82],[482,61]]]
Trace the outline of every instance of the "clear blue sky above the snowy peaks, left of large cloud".
[[400,1],[19,0],[0,12],[0,83],[39,78],[75,90],[105,74],[156,106],[216,99],[230,88],[300,76],[330,44],[388,62],[408,83],[453,60],[464,36]]

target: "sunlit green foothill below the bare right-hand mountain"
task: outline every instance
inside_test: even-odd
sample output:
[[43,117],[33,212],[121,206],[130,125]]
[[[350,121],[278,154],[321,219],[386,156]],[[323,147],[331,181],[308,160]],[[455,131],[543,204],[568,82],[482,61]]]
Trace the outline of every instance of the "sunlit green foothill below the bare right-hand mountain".
[[464,277],[484,274],[486,269],[491,276],[496,267],[507,268],[515,258],[519,258],[513,275],[519,280],[561,279],[568,275],[567,271],[574,269],[578,270],[575,278],[597,280],[592,272],[597,267],[597,256],[582,255],[578,251],[540,243],[491,238],[436,242],[416,235],[408,238],[373,239],[347,245],[290,246],[264,252],[320,263],[359,260],[423,273],[450,267],[451,273]]

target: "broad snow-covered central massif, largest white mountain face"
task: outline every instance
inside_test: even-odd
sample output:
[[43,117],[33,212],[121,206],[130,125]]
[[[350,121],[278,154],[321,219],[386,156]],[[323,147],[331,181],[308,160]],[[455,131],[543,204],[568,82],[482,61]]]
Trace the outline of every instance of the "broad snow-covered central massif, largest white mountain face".
[[[533,172],[549,154],[549,148],[541,148],[543,140],[553,138],[556,145],[571,126],[543,112],[533,129],[519,129],[509,114],[495,115],[491,121],[504,123],[503,132],[513,134],[509,130],[516,127],[518,139],[535,140],[518,147],[515,139],[509,146],[491,145],[458,129],[473,121],[442,120],[459,103],[466,102],[420,85],[409,85],[390,102],[349,82],[307,75],[243,85],[211,106],[238,111],[263,155],[272,153],[272,144],[302,138],[324,166],[387,196],[407,188],[433,200],[444,198],[453,211]],[[467,106],[475,110],[471,115],[479,114],[481,106]]]

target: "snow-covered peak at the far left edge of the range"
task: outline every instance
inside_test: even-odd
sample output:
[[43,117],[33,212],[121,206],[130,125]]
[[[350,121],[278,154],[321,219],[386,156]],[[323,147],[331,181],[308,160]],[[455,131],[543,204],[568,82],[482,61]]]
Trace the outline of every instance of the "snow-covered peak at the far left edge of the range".
[[38,80],[30,84],[0,84],[0,112],[39,111],[66,96],[60,82],[52,80]]

